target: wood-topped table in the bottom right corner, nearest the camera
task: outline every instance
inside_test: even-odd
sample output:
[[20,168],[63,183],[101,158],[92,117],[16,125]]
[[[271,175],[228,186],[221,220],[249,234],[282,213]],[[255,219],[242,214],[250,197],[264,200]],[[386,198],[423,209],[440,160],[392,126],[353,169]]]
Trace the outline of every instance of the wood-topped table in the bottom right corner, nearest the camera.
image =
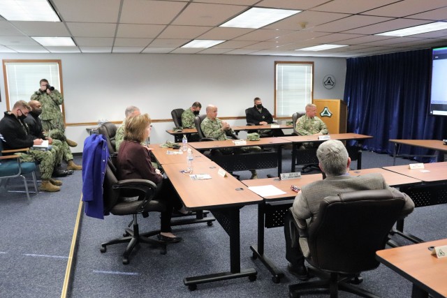
[[447,239],[388,248],[376,259],[413,283],[412,298],[447,297],[447,258],[437,258],[432,246],[447,246]]

